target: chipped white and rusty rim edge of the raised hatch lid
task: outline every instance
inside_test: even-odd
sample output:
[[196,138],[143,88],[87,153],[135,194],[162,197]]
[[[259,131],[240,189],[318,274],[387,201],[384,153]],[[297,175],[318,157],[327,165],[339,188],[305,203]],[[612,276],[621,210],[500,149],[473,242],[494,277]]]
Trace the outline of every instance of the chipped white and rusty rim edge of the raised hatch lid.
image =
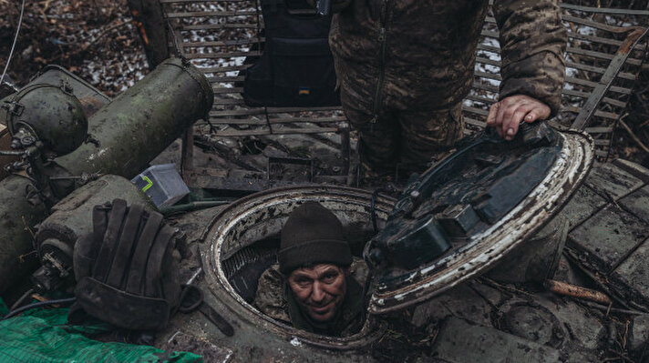
[[557,213],[588,174],[593,160],[592,138],[583,133],[561,133],[561,156],[531,194],[499,222],[470,237],[459,247],[404,278],[405,285],[379,284],[369,311],[384,314],[400,310],[479,275],[520,245]]

